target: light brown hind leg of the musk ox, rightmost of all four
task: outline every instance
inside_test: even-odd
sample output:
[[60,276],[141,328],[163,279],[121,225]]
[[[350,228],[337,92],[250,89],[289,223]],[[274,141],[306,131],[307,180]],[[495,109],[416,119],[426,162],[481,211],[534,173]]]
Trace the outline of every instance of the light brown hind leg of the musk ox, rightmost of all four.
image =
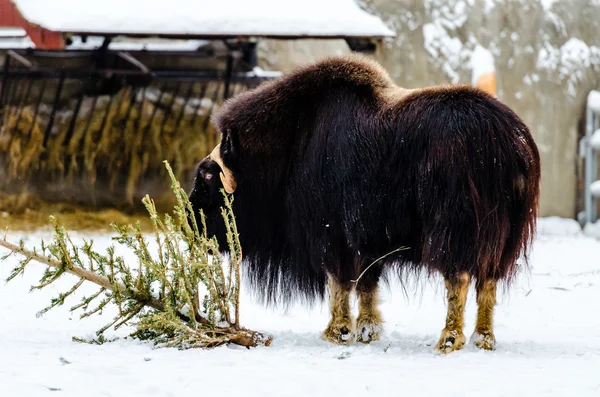
[[485,280],[477,289],[477,325],[471,342],[480,349],[495,350],[494,306],[496,305],[496,280]]

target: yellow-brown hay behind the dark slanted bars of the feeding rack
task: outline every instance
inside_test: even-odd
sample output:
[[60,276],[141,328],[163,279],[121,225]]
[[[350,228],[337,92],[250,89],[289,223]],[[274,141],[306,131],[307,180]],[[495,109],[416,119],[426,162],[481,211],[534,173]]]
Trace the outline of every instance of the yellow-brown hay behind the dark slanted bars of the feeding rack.
[[[206,96],[217,98],[220,88],[209,85]],[[129,210],[151,194],[172,207],[163,161],[186,186],[195,165],[218,143],[209,99],[186,101],[152,87],[84,97],[69,137],[77,102],[71,99],[57,110],[47,147],[50,106],[42,104],[37,114],[33,105],[3,109],[0,190]],[[1,202],[0,210],[6,211]]]

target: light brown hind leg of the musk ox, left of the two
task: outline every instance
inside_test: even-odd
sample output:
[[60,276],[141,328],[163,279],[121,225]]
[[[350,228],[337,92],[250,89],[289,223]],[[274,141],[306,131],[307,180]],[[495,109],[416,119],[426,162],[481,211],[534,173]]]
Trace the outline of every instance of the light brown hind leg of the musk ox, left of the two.
[[446,279],[448,315],[446,316],[446,327],[435,346],[440,353],[460,350],[465,344],[464,313],[470,282],[471,277],[467,273],[459,274],[455,280]]

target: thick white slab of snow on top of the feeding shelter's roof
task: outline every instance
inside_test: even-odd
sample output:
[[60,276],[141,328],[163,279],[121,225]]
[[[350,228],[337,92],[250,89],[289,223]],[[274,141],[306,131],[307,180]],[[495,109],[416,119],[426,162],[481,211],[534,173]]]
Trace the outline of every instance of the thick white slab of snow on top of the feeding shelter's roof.
[[29,22],[63,33],[164,36],[386,37],[355,0],[12,0]]

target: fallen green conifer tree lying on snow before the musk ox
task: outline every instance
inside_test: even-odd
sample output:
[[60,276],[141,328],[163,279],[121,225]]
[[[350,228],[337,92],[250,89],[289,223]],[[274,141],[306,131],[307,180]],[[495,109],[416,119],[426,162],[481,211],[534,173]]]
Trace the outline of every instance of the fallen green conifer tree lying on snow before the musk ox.
[[[72,288],[52,299],[40,314],[63,305],[85,282],[96,284],[98,291],[85,296],[70,310],[81,310],[84,318],[101,312],[109,304],[118,307],[115,318],[97,331],[100,341],[109,328],[130,324],[136,327],[132,337],[167,347],[187,349],[226,343],[268,346],[270,336],[239,324],[242,251],[230,199],[225,195],[226,205],[222,209],[230,252],[226,263],[216,239],[200,233],[195,221],[193,227],[187,222],[188,214],[194,216],[191,204],[166,161],[165,165],[177,201],[173,216],[167,214],[161,219],[153,201],[148,196],[143,200],[154,229],[156,254],[152,255],[147,236],[139,225],[111,225],[118,233],[113,239],[136,255],[137,269],[128,267],[123,257],[115,254],[114,247],[101,254],[94,251],[93,242],[84,241],[77,246],[51,218],[54,241],[49,245],[42,242],[41,250],[28,250],[23,241],[10,243],[6,236],[0,240],[0,246],[10,250],[2,260],[13,254],[24,257],[7,281],[32,262],[47,266],[39,285],[33,289],[47,287],[65,274],[79,277]],[[203,290],[205,293],[201,293]]]

